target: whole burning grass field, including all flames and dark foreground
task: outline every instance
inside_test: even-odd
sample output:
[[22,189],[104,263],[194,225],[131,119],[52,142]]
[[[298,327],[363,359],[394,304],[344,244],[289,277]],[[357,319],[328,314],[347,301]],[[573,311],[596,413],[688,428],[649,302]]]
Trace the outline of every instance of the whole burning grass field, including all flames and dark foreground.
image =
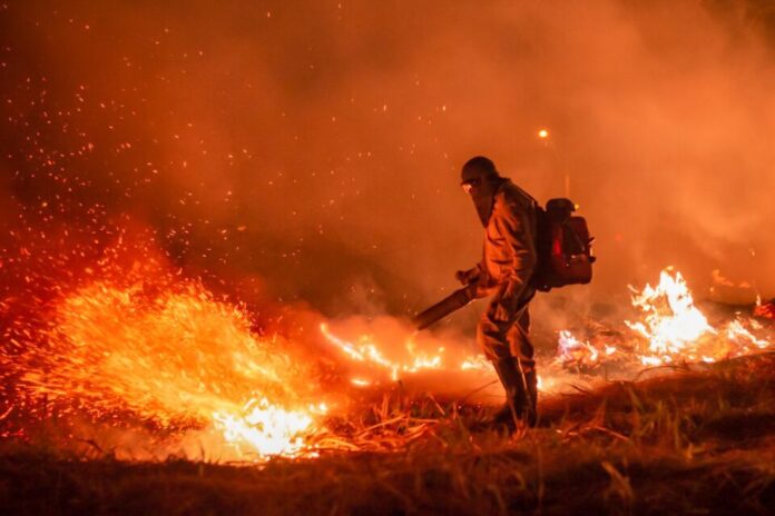
[[502,396],[492,370],[439,335],[311,317],[288,322],[311,329],[298,338],[164,267],[92,276],[7,331],[11,512],[764,514],[773,503],[772,322],[707,319],[678,274],[635,292],[635,322],[561,331],[558,353],[539,357],[540,426],[513,436],[488,428],[492,408],[473,396],[488,385]]

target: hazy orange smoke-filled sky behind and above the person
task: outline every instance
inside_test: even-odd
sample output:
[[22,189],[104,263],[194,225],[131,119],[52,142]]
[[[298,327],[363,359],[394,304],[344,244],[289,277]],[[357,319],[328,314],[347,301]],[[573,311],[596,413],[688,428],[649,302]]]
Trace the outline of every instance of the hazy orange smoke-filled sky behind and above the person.
[[570,178],[599,261],[568,292],[674,265],[700,296],[715,269],[753,285],[730,298],[772,296],[773,20],[722,0],[8,1],[4,252],[21,229],[104,245],[130,225],[187,274],[408,312],[480,257],[459,169],[485,155],[542,201]]

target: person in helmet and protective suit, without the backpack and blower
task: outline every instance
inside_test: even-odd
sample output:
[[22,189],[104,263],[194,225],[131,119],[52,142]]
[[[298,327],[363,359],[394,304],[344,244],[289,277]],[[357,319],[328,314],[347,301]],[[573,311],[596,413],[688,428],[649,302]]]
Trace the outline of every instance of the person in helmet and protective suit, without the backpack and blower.
[[480,264],[455,277],[463,285],[475,282],[477,297],[492,296],[477,327],[477,340],[507,396],[492,423],[534,426],[538,389],[528,304],[536,294],[530,279],[537,265],[537,202],[484,157],[470,159],[461,179],[484,227],[484,252]]

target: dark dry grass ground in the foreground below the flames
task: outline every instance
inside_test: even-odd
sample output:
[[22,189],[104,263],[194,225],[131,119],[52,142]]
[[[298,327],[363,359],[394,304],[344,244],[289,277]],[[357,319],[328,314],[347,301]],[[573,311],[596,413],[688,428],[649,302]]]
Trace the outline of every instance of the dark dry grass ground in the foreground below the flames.
[[[775,355],[546,396],[534,430],[394,393],[347,421],[361,449],[228,465],[4,443],[6,514],[772,514]],[[346,428],[345,428],[346,427]],[[374,450],[367,450],[370,443]],[[379,444],[379,446],[377,446]]]

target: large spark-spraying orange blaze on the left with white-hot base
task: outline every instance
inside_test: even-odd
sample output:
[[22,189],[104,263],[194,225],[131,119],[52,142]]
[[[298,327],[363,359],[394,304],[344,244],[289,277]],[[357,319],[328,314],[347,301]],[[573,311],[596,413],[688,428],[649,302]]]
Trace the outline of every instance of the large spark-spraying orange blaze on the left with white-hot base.
[[237,458],[301,453],[326,411],[303,403],[310,367],[200,284],[154,287],[96,281],[65,296],[19,360],[19,388],[97,420],[214,431]]

